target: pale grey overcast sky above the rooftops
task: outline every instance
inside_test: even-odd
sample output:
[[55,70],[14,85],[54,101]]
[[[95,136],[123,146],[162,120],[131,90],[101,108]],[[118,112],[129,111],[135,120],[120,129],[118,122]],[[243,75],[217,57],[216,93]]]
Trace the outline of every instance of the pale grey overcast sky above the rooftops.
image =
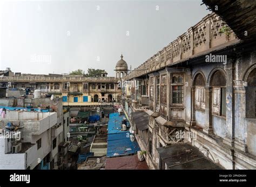
[[210,11],[201,0],[6,1],[1,3],[0,69],[69,73],[105,69],[121,53],[136,68]]

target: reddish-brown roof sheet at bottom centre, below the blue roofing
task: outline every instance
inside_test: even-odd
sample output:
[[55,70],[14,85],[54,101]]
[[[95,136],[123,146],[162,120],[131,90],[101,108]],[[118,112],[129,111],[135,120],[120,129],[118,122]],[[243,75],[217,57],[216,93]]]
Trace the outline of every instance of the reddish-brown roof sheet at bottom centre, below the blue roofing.
[[149,169],[146,161],[140,162],[138,155],[107,158],[105,169]]

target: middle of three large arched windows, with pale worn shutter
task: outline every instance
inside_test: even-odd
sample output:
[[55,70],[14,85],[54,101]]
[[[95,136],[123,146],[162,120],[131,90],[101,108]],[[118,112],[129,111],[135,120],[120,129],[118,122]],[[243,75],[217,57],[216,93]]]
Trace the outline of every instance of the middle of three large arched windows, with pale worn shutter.
[[226,77],[220,70],[212,75],[212,113],[217,116],[226,116]]

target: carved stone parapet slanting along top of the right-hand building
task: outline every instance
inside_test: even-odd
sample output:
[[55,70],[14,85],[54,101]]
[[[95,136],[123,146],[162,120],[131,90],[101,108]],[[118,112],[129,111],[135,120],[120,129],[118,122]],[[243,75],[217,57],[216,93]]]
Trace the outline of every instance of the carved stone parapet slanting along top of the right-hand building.
[[238,41],[230,27],[218,15],[211,13],[131,71],[125,80],[170,66],[206,51],[210,52],[218,49],[218,46],[231,45]]

